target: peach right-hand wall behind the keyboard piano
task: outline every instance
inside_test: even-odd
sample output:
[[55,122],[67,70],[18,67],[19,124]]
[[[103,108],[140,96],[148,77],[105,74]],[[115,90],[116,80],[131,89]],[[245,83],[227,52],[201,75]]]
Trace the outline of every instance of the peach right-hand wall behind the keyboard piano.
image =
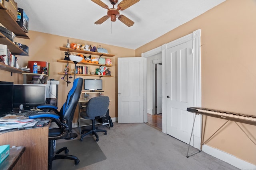
[[[256,115],[255,14],[255,0],[226,0],[136,49],[136,56],[201,29],[202,107]],[[208,117],[205,139],[224,122]],[[256,126],[241,126],[256,141]],[[234,122],[207,145],[256,165],[256,146]]]

